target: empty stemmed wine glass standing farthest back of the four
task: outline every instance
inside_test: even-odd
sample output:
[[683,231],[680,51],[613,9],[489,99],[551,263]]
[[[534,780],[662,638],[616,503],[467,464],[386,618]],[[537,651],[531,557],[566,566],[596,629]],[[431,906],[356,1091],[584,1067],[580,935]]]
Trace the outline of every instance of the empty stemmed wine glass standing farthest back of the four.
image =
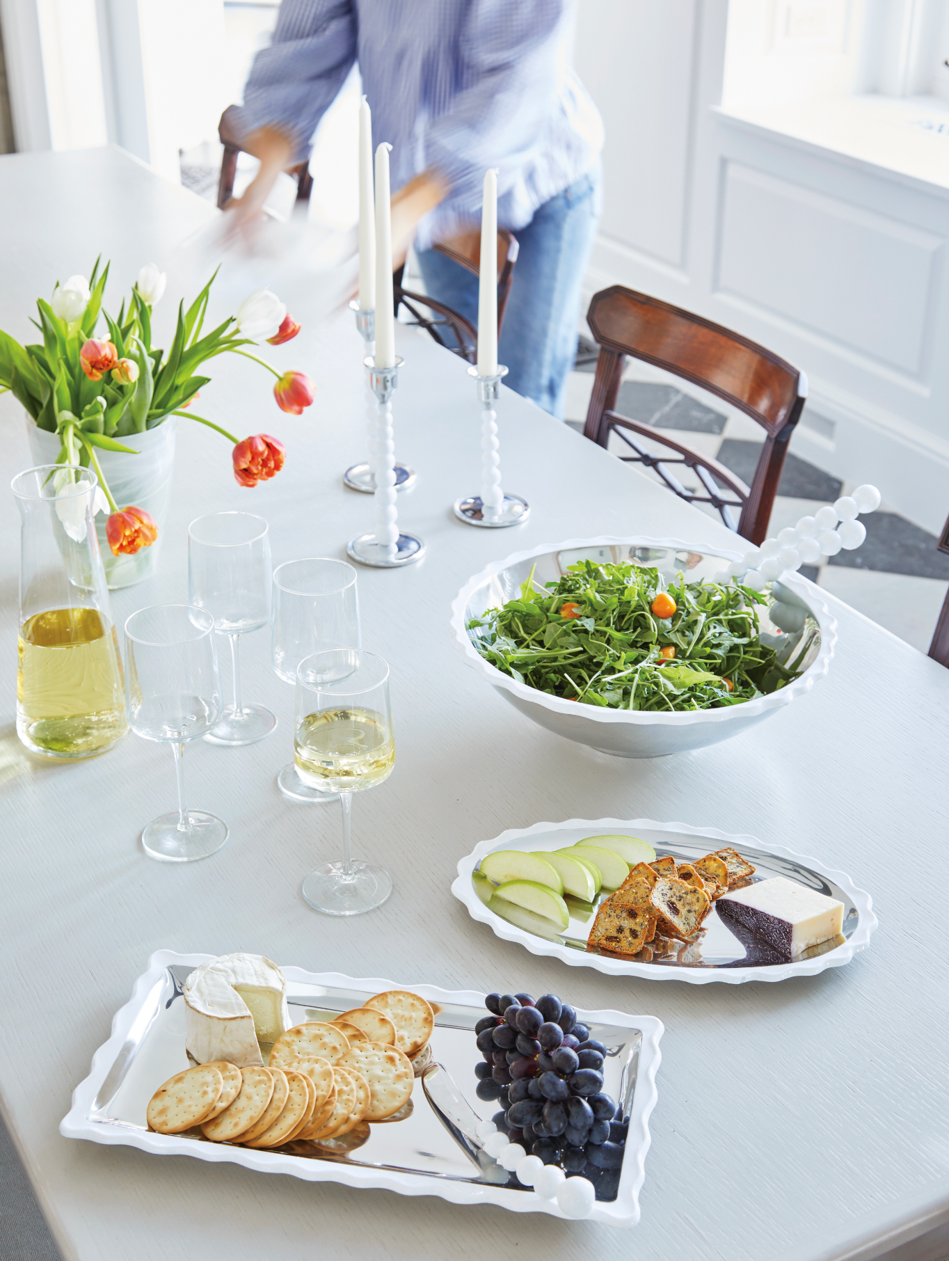
[[231,642],[234,701],[205,739],[212,744],[253,744],[277,725],[262,705],[244,705],[237,662],[238,637],[270,620],[267,522],[250,512],[212,512],[188,527],[188,598],[214,618]]

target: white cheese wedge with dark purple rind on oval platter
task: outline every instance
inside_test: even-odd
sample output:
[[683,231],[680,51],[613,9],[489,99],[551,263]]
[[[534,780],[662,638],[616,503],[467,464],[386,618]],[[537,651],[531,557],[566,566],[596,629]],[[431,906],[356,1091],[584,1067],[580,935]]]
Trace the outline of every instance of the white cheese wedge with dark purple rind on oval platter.
[[837,937],[843,926],[842,902],[783,875],[726,893],[715,908],[726,924],[740,924],[785,958]]

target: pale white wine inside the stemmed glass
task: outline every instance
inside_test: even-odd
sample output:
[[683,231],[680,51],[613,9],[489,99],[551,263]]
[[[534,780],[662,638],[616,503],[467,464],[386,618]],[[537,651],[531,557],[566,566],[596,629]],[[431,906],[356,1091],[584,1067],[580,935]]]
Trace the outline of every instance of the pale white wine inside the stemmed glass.
[[294,760],[304,783],[328,792],[353,792],[389,776],[396,745],[392,730],[373,710],[319,710],[300,721]]

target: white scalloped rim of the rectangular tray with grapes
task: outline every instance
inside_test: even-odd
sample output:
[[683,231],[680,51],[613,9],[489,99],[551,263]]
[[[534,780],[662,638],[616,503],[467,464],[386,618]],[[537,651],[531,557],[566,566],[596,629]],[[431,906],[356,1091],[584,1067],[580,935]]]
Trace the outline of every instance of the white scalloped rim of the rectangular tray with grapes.
[[[125,1045],[145,1000],[161,980],[165,968],[171,963],[198,967],[199,963],[205,963],[212,958],[214,958],[213,955],[178,955],[170,950],[155,951],[149,957],[149,970],[136,980],[131,999],[112,1018],[112,1033],[108,1042],[103,1043],[93,1054],[89,1076],[73,1091],[72,1107],[59,1124],[59,1132],[63,1137],[139,1148],[160,1156],[194,1156],[198,1160],[237,1164],[260,1173],[290,1174],[304,1182],[334,1182],[347,1187],[379,1188],[393,1190],[400,1195],[437,1195],[452,1204],[497,1204],[515,1213],[548,1213],[552,1217],[563,1218],[563,1221],[573,1221],[560,1209],[556,1200],[542,1199],[532,1192],[490,1187],[483,1183],[452,1182],[447,1178],[427,1174],[408,1174],[392,1169],[371,1169],[329,1160],[313,1160],[277,1151],[251,1151],[246,1148],[227,1146],[226,1144],[195,1142],[194,1139],[183,1139],[176,1135],[135,1130],[121,1122],[89,1120],[88,1113],[96,1096]],[[383,977],[352,977],[343,972],[306,972],[300,967],[284,967],[282,971],[291,984],[300,981],[305,985],[348,987],[365,991],[367,995],[406,987],[406,982]],[[441,990],[435,985],[416,984],[411,984],[410,987],[423,999],[434,1002],[459,1002],[470,1006],[484,1004],[484,995],[475,990]],[[649,1116],[659,1097],[655,1074],[662,1059],[659,1039],[664,1033],[664,1025],[657,1016],[629,1015],[613,1009],[600,1011],[577,1009],[577,1014],[584,1019],[618,1024],[624,1029],[638,1029],[643,1034],[619,1192],[613,1203],[597,1200],[589,1216],[584,1218],[584,1221],[590,1222],[604,1222],[607,1226],[635,1226],[640,1216],[639,1192],[645,1179],[645,1155],[652,1142]]]

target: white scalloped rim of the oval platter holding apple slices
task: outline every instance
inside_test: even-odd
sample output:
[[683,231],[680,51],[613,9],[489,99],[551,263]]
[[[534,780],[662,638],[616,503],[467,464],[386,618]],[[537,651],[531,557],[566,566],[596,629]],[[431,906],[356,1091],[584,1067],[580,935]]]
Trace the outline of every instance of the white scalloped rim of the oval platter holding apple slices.
[[[701,836],[703,839],[720,841],[723,845],[732,845],[741,852],[742,845],[760,850],[762,854],[773,854],[775,857],[793,859],[803,866],[810,868],[818,875],[833,880],[857,909],[857,927],[847,938],[843,946],[819,955],[817,958],[800,960],[797,963],[771,963],[754,967],[676,967],[673,965],[655,966],[650,963],[636,963],[634,960],[609,958],[605,955],[585,955],[571,946],[558,946],[556,942],[546,941],[543,937],[534,937],[533,933],[524,932],[514,924],[495,915],[493,910],[481,902],[471,883],[471,874],[475,865],[486,854],[502,847],[509,847],[510,841],[519,841],[526,836],[537,836],[541,832],[566,831],[567,828],[590,828],[606,835],[611,827],[623,827],[629,831],[649,830],[653,832],[678,832],[683,836]],[[531,951],[532,955],[552,955],[562,960],[571,967],[592,967],[597,972],[606,972],[613,976],[641,976],[648,981],[687,981],[691,985],[711,985],[720,982],[725,985],[742,985],[746,981],[786,981],[793,976],[815,976],[828,967],[843,967],[849,963],[858,951],[866,950],[870,944],[870,934],[878,924],[873,914],[873,899],[870,894],[858,889],[846,871],[824,866],[817,859],[807,854],[798,854],[797,850],[785,849],[783,845],[762,845],[755,836],[735,836],[722,832],[717,827],[693,827],[691,823],[662,823],[653,818],[568,818],[562,823],[534,823],[532,827],[509,828],[495,836],[492,841],[481,841],[457,865],[457,879],[451,885],[451,892],[468,907],[468,913],[473,919],[488,924],[495,937],[508,942],[518,942]]]

